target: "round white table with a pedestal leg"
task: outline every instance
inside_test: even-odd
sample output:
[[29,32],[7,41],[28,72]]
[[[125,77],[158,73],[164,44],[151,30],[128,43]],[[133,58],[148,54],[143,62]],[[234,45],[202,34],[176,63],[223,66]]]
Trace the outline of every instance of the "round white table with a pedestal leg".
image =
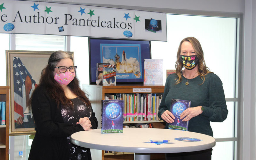
[[[124,133],[101,134],[101,129],[76,132],[71,135],[71,142],[77,146],[134,152],[134,159],[150,159],[150,153],[178,153],[210,149],[215,146],[215,138],[195,132],[159,128],[124,128]],[[174,138],[189,137],[202,141],[185,142]],[[173,144],[144,143],[149,140],[169,140]]]

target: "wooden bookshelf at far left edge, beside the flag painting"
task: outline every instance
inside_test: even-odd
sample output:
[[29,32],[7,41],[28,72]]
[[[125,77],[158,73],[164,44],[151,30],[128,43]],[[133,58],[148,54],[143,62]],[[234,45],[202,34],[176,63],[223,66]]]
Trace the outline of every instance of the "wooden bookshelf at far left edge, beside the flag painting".
[[6,125],[0,125],[0,160],[9,159],[9,91],[9,86],[0,86],[0,101],[6,102]]

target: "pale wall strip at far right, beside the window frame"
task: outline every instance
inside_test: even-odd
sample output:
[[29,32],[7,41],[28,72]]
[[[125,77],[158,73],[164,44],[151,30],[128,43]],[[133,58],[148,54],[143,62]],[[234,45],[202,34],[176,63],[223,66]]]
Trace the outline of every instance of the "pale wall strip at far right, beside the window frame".
[[245,0],[244,12],[244,110],[243,159],[255,155],[255,58],[256,58],[256,1]]

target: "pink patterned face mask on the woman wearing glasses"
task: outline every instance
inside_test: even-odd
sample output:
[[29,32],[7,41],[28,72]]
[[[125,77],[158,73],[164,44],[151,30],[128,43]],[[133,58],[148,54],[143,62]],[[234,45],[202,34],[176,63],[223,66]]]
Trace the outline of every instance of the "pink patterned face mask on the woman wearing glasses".
[[56,73],[54,79],[62,85],[68,85],[74,78],[76,74],[73,72]]

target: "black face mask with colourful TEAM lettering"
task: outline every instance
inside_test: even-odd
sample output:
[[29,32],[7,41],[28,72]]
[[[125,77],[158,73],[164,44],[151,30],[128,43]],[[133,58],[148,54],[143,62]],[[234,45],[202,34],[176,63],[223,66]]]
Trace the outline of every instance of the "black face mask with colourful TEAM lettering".
[[196,55],[180,55],[180,62],[183,64],[185,69],[191,70],[198,64],[198,58]]

